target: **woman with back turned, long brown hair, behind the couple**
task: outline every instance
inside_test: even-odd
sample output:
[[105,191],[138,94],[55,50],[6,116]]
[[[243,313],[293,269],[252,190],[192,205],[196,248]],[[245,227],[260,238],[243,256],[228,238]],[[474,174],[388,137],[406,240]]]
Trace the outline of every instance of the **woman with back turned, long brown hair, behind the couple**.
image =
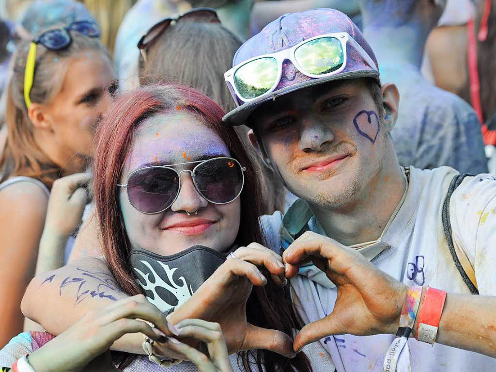
[[[241,41],[222,26],[213,9],[193,9],[167,26],[168,18],[152,26],[140,44],[140,84],[157,80],[179,83],[199,90],[217,102],[224,111],[236,107],[224,82],[224,71],[232,67]],[[194,58],[192,57],[194,56]],[[273,171],[263,166],[248,144],[247,127],[236,128],[262,174],[262,214],[283,210],[284,185]],[[269,197],[270,196],[270,197]],[[74,243],[70,261],[101,255],[96,220],[88,218]]]

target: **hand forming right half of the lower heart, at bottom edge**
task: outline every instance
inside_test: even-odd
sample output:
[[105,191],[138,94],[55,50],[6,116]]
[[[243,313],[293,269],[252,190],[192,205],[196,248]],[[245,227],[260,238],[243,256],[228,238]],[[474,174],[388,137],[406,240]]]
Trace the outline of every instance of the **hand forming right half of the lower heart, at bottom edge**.
[[229,361],[226,341],[219,323],[211,323],[201,319],[185,319],[176,325],[179,336],[194,338],[207,344],[208,355],[195,348],[169,337],[167,345],[185,359],[193,362],[199,372],[233,372]]

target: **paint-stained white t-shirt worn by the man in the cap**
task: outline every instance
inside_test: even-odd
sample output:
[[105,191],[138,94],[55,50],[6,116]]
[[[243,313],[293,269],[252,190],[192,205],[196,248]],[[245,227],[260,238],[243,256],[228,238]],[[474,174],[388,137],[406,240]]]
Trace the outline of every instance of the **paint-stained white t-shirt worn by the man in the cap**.
[[[404,203],[382,235],[382,241],[390,247],[372,259],[376,267],[409,286],[470,294],[453,262],[441,222],[446,191],[457,173],[445,166],[432,170],[410,167]],[[449,207],[453,243],[473,266],[480,295],[496,296],[495,176],[466,177],[452,194]],[[261,223],[267,244],[279,253],[282,215],[264,216]],[[315,223],[309,226],[322,233]],[[335,288],[326,288],[304,275],[291,280],[291,287],[299,314],[306,323],[332,312]],[[320,343],[331,356],[337,372],[382,372],[384,356],[393,339],[393,335],[346,334],[326,337]],[[496,371],[496,359],[481,354],[440,344],[431,346],[415,339],[408,343],[412,371]],[[329,372],[330,368],[316,371]]]

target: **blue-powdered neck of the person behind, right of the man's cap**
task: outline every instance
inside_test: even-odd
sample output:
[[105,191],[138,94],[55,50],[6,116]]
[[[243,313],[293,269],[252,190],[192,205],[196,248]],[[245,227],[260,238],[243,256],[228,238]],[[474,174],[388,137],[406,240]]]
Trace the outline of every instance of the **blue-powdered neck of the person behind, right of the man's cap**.
[[412,65],[420,70],[430,32],[431,27],[420,22],[412,21],[397,27],[368,26],[364,19],[363,34],[374,51],[379,67]]

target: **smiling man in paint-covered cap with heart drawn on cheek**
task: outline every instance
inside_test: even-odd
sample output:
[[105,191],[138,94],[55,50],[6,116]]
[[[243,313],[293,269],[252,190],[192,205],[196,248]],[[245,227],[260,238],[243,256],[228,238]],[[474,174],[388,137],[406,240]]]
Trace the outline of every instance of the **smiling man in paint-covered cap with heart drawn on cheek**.
[[[255,65],[248,66],[250,61]],[[240,48],[234,64],[245,68],[226,77],[239,103],[246,102],[225,122],[250,125],[255,148],[302,198],[284,219],[275,214],[262,221],[268,245],[276,252],[287,248],[286,275],[293,278],[293,299],[308,324],[295,348],[319,340],[321,357],[331,356],[338,372],[382,371],[406,286],[432,286],[448,292],[438,343],[431,348],[410,340],[412,369],[494,370],[496,360],[490,357],[444,346],[496,356],[496,300],[466,296],[470,290],[462,277],[463,272],[477,280],[481,294],[495,295],[494,177],[463,179],[451,192],[443,223],[443,201],[457,172],[399,166],[389,136],[398,115],[397,89],[392,84],[380,87],[372,49],[343,13],[315,9],[280,17]],[[443,224],[451,228],[455,256],[465,271],[459,272],[453,262]],[[319,235],[303,233],[307,230]],[[323,271],[300,265],[309,255]],[[101,262],[87,265],[105,272]],[[68,269],[60,269],[59,277],[70,275]],[[57,302],[65,316],[54,320],[39,305],[53,297],[50,291],[59,298],[57,279],[40,287],[50,278],[36,278],[23,304],[27,315],[36,308],[50,332],[59,333],[73,321],[70,316],[77,319],[82,311],[104,305],[95,296],[74,307],[75,290],[67,287],[60,294],[66,300]],[[131,349],[127,340],[124,350]],[[121,340],[118,347],[124,344]],[[329,362],[317,370],[333,368]]]

